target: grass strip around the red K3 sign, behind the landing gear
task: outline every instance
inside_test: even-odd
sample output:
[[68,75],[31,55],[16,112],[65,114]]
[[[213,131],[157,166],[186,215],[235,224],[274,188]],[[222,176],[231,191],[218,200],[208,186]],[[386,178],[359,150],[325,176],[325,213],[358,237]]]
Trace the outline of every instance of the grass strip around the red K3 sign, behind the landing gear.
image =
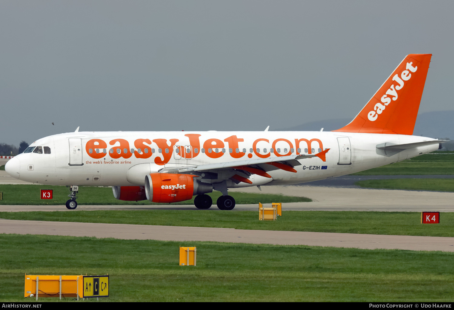
[[[40,189],[53,189],[54,199],[39,199]],[[63,205],[69,199],[69,190],[65,186],[53,185],[0,185],[0,192],[3,192],[3,200],[0,204],[27,204],[27,205]],[[272,203],[272,202],[310,202],[306,197],[293,197],[273,194],[246,194],[246,193],[230,193],[235,198],[237,204],[243,203]],[[214,191],[209,194],[213,203],[221,196],[221,192]],[[114,204],[114,205],[168,205],[169,203],[153,203],[148,200],[142,201],[122,201],[114,198],[112,189],[109,187],[80,187],[77,195],[77,203],[79,205],[93,204]],[[191,200],[182,201],[179,203],[170,203],[173,205],[194,204],[194,198]]]

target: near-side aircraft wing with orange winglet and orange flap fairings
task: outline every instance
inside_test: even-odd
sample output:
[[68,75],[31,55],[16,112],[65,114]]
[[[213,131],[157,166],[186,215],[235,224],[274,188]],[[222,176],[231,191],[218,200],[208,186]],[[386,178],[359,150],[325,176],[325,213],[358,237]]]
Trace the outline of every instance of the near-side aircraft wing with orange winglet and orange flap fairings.
[[[237,161],[228,161],[222,163],[214,164],[204,164],[204,165],[193,165],[193,166],[183,166],[183,167],[168,167],[159,170],[159,173],[191,173],[191,172],[217,172],[220,170],[232,170],[233,175],[228,177],[237,182],[251,183],[248,180],[248,177],[251,174],[257,174],[264,176],[266,178],[271,178],[267,171],[271,170],[286,170],[289,172],[296,172],[293,169],[295,166],[301,165],[298,160],[319,157],[321,160],[326,160],[326,152],[330,149],[326,149],[317,154],[311,155],[290,155],[290,156],[280,156],[280,157],[268,157],[260,158],[253,160],[237,160]],[[238,171],[241,171],[238,174]],[[231,173],[231,174],[232,174]],[[224,174],[230,175],[230,174]]]

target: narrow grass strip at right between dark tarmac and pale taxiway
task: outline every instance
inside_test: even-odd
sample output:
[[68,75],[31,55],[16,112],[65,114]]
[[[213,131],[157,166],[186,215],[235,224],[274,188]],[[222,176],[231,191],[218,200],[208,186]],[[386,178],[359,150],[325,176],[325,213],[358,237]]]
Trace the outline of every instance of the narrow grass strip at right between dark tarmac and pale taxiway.
[[355,185],[372,189],[433,190],[454,192],[454,179],[385,179],[358,181]]

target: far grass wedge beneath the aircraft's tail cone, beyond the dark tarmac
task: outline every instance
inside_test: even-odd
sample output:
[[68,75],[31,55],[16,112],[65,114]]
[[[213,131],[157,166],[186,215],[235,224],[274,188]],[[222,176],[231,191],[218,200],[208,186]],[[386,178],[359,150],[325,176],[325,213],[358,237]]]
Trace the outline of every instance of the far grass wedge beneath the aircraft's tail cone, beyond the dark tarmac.
[[[451,154],[437,154],[451,153]],[[432,152],[404,160],[399,163],[381,166],[351,175],[420,175],[454,174],[454,152]]]

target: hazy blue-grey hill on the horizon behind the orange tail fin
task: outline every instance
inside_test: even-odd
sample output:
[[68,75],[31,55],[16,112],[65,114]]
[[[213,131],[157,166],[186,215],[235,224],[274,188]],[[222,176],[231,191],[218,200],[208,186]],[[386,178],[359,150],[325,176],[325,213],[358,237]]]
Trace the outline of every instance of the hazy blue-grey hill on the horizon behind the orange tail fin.
[[[331,120],[311,121],[298,126],[278,129],[277,131],[331,131],[342,128],[350,123],[349,118],[334,118]],[[420,113],[415,123],[413,135],[438,139],[454,140],[454,111],[433,111]],[[454,141],[444,144],[446,150],[454,150]]]

